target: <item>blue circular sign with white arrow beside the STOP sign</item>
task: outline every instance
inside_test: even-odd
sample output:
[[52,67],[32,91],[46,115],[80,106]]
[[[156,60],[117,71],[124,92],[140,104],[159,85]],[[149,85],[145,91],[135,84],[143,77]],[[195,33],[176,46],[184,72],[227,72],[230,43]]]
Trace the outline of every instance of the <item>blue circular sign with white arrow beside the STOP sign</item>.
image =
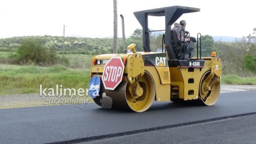
[[99,76],[93,75],[88,86],[88,90],[91,98],[95,98],[99,96],[99,90],[101,87],[100,84],[101,84],[101,79],[99,78]]

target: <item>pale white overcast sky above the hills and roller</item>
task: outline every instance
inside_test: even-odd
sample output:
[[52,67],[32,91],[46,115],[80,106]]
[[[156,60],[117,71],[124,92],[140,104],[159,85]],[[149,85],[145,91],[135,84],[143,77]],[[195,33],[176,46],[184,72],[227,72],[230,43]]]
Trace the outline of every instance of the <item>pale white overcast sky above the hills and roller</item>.
[[[200,12],[184,14],[192,36],[241,37],[256,28],[255,0],[117,0],[118,37],[121,18],[125,18],[125,34],[141,28],[133,12],[181,5],[200,8]],[[80,35],[104,38],[113,36],[113,0],[1,0],[0,38],[30,35]],[[149,28],[165,29],[163,17],[150,17]]]

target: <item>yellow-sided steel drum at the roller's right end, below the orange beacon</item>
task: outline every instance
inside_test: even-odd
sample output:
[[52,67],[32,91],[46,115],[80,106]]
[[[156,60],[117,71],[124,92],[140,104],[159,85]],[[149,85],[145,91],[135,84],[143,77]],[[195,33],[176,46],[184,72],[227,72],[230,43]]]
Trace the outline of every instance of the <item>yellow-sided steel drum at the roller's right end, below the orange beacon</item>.
[[[204,105],[214,105],[219,99],[219,93],[221,91],[221,84],[218,79],[213,83],[211,89],[206,86],[206,78],[210,75],[211,71],[204,73],[200,81],[199,96]],[[215,75],[217,77],[217,75]]]

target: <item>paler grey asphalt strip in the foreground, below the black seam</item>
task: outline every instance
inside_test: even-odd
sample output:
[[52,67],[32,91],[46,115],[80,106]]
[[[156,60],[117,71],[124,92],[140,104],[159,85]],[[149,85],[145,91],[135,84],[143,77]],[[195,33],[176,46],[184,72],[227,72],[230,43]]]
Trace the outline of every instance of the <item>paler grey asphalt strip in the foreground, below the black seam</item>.
[[249,115],[82,143],[255,144],[255,134],[256,115]]

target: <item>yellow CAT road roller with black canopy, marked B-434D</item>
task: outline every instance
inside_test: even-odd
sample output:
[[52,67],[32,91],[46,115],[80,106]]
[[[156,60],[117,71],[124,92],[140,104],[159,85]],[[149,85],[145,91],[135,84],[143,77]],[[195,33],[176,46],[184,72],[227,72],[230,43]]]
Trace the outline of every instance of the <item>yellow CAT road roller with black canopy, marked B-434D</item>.
[[[184,13],[199,12],[199,8],[172,6],[134,12],[143,28],[144,52],[94,55],[91,77],[99,78],[99,92],[94,102],[102,106],[102,94],[112,99],[112,109],[144,112],[154,101],[200,101],[204,105],[217,102],[220,93],[221,59],[201,57],[201,39],[179,40],[172,24]],[[150,50],[148,16],[165,16],[162,48]],[[154,30],[156,31],[156,30]],[[184,36],[185,38],[185,36]],[[197,47],[195,48],[197,43]],[[195,55],[196,54],[196,55]],[[194,56],[195,55],[195,56]]]

